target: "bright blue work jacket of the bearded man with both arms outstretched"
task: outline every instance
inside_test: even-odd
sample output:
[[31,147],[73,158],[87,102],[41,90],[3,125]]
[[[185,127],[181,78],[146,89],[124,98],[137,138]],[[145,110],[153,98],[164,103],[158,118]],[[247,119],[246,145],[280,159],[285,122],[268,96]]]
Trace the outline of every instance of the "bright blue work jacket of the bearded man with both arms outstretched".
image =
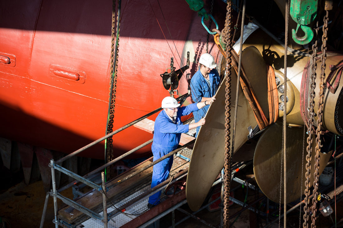
[[162,110],[155,120],[153,146],[157,149],[175,150],[180,142],[181,133],[189,131],[189,125],[183,125],[181,116],[185,116],[199,110],[197,104],[189,104],[185,107],[179,107],[175,123],[168,117],[167,113]]

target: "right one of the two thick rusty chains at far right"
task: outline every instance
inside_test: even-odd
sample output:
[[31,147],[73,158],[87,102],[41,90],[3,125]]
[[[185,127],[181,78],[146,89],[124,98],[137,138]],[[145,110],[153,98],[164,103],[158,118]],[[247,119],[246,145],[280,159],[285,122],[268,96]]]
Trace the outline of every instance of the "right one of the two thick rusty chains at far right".
[[319,83],[319,100],[318,100],[318,111],[317,111],[317,129],[316,129],[316,155],[315,155],[315,173],[314,173],[314,181],[313,181],[313,198],[312,198],[312,223],[311,223],[311,227],[316,227],[316,220],[317,220],[317,196],[318,196],[318,178],[319,178],[319,161],[320,161],[320,150],[321,150],[321,139],[320,139],[320,135],[321,135],[321,126],[322,126],[322,116],[323,116],[323,98],[324,98],[324,78],[325,78],[325,68],[326,68],[326,50],[327,50],[327,40],[328,40],[328,25],[329,25],[329,11],[326,10],[326,15],[324,16],[324,26],[323,26],[323,35],[322,35],[322,45],[321,45],[321,51],[322,51],[322,55],[321,55],[321,73],[320,73],[320,83]]

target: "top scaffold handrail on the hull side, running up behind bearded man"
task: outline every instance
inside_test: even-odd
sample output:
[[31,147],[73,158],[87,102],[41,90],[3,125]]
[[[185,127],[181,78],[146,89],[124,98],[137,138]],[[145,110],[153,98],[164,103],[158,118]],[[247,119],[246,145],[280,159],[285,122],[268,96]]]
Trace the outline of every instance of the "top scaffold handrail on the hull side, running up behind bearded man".
[[[188,93],[185,93],[184,95],[178,97],[176,100],[181,100],[182,98],[188,97],[188,96],[189,96],[189,94],[188,94]],[[68,154],[68,155],[65,156],[65,157],[62,157],[61,159],[57,160],[56,163],[61,163],[61,162],[65,161],[65,160],[67,160],[67,159],[69,159],[69,158],[75,156],[76,154],[79,154],[79,153],[81,153],[82,151],[84,151],[84,150],[86,150],[86,149],[88,149],[88,148],[90,148],[90,147],[93,147],[95,144],[97,144],[97,143],[99,143],[99,142],[101,142],[101,141],[103,141],[103,140],[105,140],[105,139],[107,139],[107,138],[109,138],[109,137],[111,137],[111,136],[117,134],[118,132],[120,132],[120,131],[122,131],[122,130],[124,130],[124,129],[126,129],[126,128],[132,126],[132,125],[134,125],[135,123],[140,122],[141,120],[143,120],[143,119],[145,119],[145,118],[147,118],[147,117],[149,117],[149,116],[151,116],[151,115],[153,115],[153,114],[155,114],[155,113],[157,113],[158,111],[161,111],[161,110],[162,110],[161,107],[159,107],[158,109],[155,109],[154,111],[152,111],[152,112],[150,112],[150,113],[148,113],[148,114],[146,114],[146,115],[144,115],[144,116],[142,116],[142,117],[136,119],[135,121],[132,121],[131,123],[129,123],[129,124],[127,124],[127,125],[125,125],[125,126],[123,126],[123,127],[121,127],[121,128],[118,128],[117,130],[111,132],[110,134],[107,134],[107,135],[105,135],[104,137],[99,138],[99,139],[95,140],[94,142],[91,142],[91,143],[88,144],[88,145],[85,145],[84,147],[82,147],[82,148],[80,148],[79,150],[76,150],[76,151],[74,151],[74,152]]]

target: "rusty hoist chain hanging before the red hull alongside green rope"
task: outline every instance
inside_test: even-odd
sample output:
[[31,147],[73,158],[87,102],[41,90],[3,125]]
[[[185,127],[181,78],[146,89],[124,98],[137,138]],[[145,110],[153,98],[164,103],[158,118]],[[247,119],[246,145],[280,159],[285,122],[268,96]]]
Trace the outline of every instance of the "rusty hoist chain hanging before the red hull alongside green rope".
[[[111,37],[111,85],[109,96],[109,111],[107,119],[106,134],[113,131],[114,123],[114,108],[116,103],[116,89],[117,89],[117,77],[118,77],[118,56],[119,56],[119,25],[120,25],[120,3],[118,1],[118,15],[117,15],[117,29],[116,25],[116,3],[112,1],[112,37]],[[113,160],[113,139],[112,136],[106,139],[106,163]],[[109,166],[107,170],[113,170],[113,166]],[[113,171],[107,172],[107,179],[113,176]]]

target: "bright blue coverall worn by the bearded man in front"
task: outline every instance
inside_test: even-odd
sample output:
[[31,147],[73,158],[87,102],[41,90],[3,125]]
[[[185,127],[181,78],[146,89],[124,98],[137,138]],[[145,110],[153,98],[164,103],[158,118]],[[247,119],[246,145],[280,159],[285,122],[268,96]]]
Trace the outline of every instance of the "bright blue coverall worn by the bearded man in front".
[[[158,114],[155,120],[154,137],[151,145],[151,151],[154,155],[153,161],[156,161],[157,159],[177,148],[180,142],[181,133],[186,133],[189,131],[188,124],[183,125],[180,118],[181,116],[188,115],[196,110],[199,110],[197,104],[179,107],[175,123],[173,123],[164,110]],[[170,156],[154,165],[151,188],[168,179],[172,164],[173,156]],[[151,195],[149,197],[149,203],[154,205],[159,204],[160,195],[161,191]]]

